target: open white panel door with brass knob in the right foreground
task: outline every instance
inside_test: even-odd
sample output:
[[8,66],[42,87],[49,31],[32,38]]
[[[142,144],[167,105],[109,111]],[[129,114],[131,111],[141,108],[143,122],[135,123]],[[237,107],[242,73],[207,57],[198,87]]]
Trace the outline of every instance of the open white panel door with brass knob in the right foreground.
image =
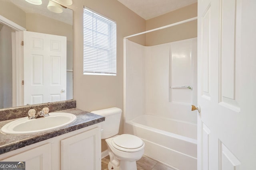
[[255,9],[198,0],[198,170],[255,170]]

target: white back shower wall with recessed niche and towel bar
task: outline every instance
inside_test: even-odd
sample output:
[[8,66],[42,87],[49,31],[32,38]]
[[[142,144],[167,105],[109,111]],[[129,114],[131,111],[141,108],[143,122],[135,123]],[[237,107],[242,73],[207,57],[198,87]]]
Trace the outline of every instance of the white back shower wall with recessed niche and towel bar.
[[[196,38],[149,47],[146,114],[196,123]],[[179,88],[190,86],[189,88]]]

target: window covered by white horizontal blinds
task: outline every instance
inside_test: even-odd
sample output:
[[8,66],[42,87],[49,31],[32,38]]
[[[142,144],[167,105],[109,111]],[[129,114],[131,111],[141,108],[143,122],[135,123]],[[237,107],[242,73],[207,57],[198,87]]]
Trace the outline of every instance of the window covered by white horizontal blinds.
[[116,22],[84,8],[84,74],[116,75]]

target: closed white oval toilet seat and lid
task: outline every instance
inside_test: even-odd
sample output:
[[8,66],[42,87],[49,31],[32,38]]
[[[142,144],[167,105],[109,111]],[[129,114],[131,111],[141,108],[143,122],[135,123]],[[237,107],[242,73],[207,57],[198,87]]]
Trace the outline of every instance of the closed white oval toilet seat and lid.
[[142,149],[144,142],[134,135],[123,134],[112,140],[112,145],[118,150],[136,152]]

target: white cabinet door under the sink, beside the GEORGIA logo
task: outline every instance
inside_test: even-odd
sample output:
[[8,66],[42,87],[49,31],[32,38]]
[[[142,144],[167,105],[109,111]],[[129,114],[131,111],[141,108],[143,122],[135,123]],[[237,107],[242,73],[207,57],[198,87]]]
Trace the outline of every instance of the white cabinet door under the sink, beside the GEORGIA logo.
[[21,152],[2,161],[25,162],[26,170],[51,170],[51,144]]

